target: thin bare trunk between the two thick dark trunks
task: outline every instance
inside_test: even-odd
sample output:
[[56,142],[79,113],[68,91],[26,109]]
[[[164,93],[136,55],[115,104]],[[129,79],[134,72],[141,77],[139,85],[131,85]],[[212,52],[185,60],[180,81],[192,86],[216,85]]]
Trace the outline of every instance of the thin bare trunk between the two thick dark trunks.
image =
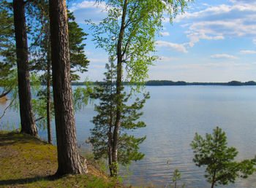
[[[50,40],[48,40],[50,42]],[[48,143],[53,144],[53,138],[51,133],[51,122],[50,122],[50,45],[48,46],[47,52],[47,91],[46,91],[46,111],[47,111],[47,130],[48,130]]]

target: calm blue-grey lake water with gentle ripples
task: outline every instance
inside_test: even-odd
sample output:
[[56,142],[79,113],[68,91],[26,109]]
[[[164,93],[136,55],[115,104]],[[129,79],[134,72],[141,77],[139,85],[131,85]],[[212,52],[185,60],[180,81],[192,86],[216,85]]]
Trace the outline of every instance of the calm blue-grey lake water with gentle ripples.
[[[238,150],[236,160],[255,156],[255,86],[147,86],[146,91],[150,92],[151,98],[146,101],[141,120],[147,127],[132,132],[135,136],[147,136],[140,145],[145,157],[129,166],[132,169],[130,184],[164,187],[177,168],[181,171],[178,184],[210,187],[203,176],[204,168],[198,168],[192,162],[194,154],[189,144],[195,132],[205,136],[217,126],[226,132],[228,146],[235,146]],[[3,109],[2,104],[0,111]],[[89,130],[94,126],[90,121],[95,114],[93,105],[75,113],[78,144],[89,137]],[[18,113],[7,111],[0,125],[6,124],[7,120],[10,127],[12,123],[17,127]],[[53,129],[53,136],[54,133]],[[40,131],[40,136],[47,138],[45,131]],[[87,147],[82,150],[88,152]],[[226,187],[256,187],[256,173],[249,179],[237,179],[235,184]]]

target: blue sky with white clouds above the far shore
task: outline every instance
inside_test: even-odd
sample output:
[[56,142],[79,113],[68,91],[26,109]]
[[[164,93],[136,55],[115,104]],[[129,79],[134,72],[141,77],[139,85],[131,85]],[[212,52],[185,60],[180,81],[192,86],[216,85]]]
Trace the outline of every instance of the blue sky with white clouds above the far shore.
[[[91,61],[82,79],[102,80],[108,55],[96,49],[84,20],[99,22],[105,17],[104,4],[70,1],[80,27],[89,34],[86,55]],[[157,60],[148,79],[186,82],[256,81],[256,1],[195,0],[173,24],[164,23],[157,38]]]

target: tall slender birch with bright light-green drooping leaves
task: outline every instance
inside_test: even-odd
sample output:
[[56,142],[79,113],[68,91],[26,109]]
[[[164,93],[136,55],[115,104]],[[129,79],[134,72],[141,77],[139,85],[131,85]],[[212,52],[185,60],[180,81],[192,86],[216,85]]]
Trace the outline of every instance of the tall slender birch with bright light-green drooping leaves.
[[[102,1],[102,0],[100,0]],[[99,1],[98,1],[99,2]],[[162,28],[163,15],[170,20],[187,7],[185,0],[108,0],[108,17],[93,24],[94,41],[117,60],[116,95],[121,96],[123,63],[130,82],[144,82],[148,66],[154,63],[155,36]],[[117,98],[116,122],[113,131],[113,162],[118,161],[118,130],[121,126],[122,101]],[[114,169],[116,173],[116,169]]]

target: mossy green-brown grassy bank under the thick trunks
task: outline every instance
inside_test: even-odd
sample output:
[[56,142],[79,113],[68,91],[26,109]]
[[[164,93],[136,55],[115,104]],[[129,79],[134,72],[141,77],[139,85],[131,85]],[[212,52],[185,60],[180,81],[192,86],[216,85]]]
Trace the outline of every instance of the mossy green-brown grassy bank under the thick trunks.
[[89,165],[86,175],[53,179],[56,146],[37,138],[0,131],[0,187],[122,187]]

